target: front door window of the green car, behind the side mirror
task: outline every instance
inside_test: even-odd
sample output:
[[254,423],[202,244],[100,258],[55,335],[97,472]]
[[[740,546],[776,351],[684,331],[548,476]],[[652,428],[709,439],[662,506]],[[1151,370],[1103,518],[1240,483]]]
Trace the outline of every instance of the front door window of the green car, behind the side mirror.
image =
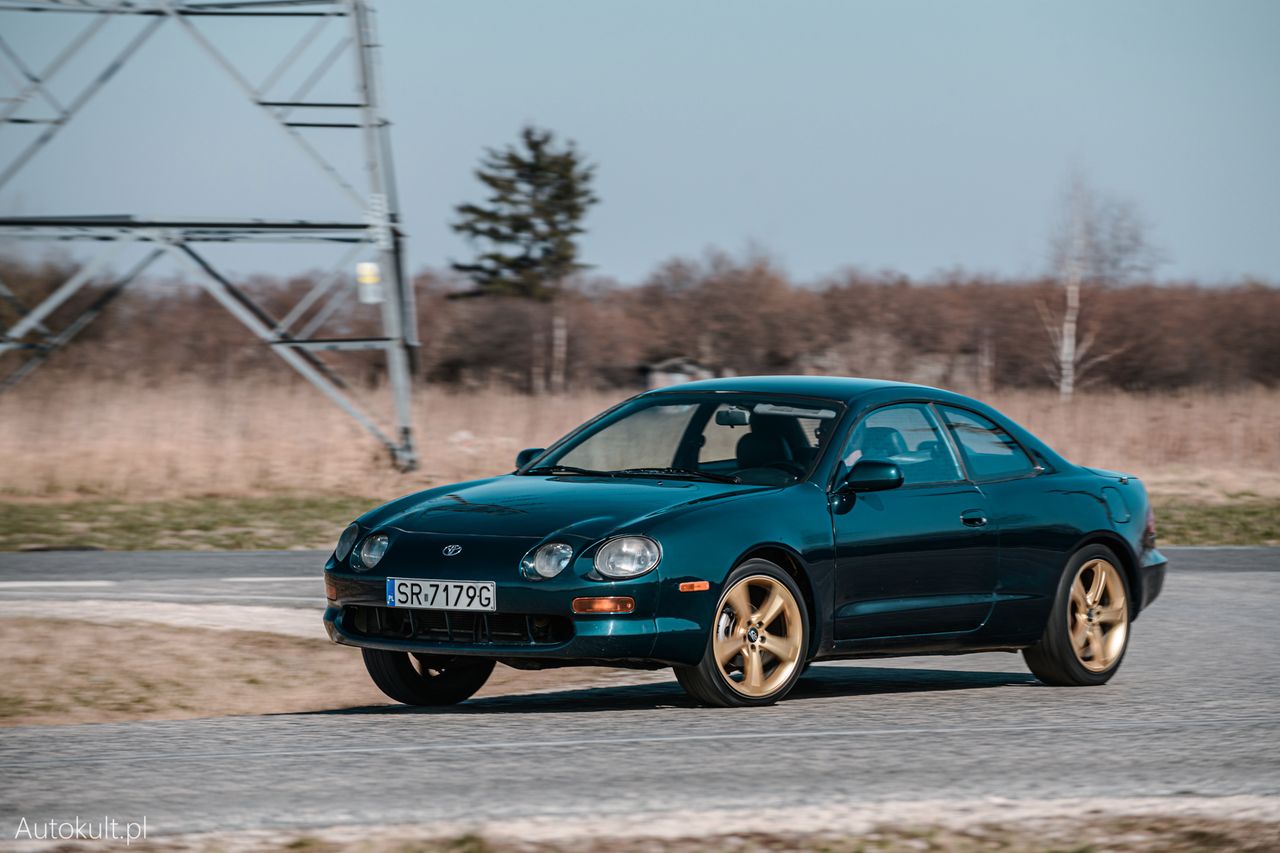
[[861,459],[893,462],[902,470],[905,485],[963,479],[951,444],[923,403],[886,406],[863,418],[845,443],[842,469],[847,471]]

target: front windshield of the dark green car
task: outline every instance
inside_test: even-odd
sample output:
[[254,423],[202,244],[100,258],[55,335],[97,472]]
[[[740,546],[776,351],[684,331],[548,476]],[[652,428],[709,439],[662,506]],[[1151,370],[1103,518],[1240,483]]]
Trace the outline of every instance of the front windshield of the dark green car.
[[841,410],[835,401],[760,394],[639,397],[524,473],[788,485],[808,476]]

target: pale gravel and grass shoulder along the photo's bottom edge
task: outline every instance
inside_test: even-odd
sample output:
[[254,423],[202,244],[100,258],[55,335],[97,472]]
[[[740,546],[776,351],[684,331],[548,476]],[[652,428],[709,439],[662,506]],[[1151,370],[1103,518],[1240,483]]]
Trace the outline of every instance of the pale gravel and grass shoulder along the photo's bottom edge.
[[0,841],[0,849],[178,853],[1199,853],[1280,848],[1280,798],[1169,797],[1060,800],[919,800],[845,808],[639,813],[600,820],[332,826],[165,835],[145,841]]

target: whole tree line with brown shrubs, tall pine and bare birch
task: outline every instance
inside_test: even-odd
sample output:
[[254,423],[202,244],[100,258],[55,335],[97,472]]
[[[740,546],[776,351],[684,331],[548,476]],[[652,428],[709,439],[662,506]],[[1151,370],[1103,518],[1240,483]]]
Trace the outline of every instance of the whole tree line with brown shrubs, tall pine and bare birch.
[[[572,142],[526,127],[516,145],[489,150],[475,175],[485,199],[458,205],[452,223],[474,257],[413,282],[426,382],[531,393],[634,387],[672,360],[719,375],[867,375],[978,392],[1043,386],[1064,398],[1091,386],[1280,382],[1280,289],[1152,283],[1161,252],[1137,207],[1080,177],[1041,278],[845,272],[795,282],[765,255],[710,251],[623,286],[591,275],[580,257],[584,219],[599,199],[595,167]],[[18,304],[36,304],[70,273],[67,264],[0,260],[0,328],[17,319]],[[237,284],[280,316],[312,278]],[[79,301],[92,298],[87,288]],[[60,313],[77,310],[73,301]],[[351,302],[323,332],[375,336],[376,309]],[[381,380],[378,355],[319,357],[339,370],[355,364],[365,383]],[[44,371],[160,380],[285,368],[202,291],[151,282],[113,304]]]

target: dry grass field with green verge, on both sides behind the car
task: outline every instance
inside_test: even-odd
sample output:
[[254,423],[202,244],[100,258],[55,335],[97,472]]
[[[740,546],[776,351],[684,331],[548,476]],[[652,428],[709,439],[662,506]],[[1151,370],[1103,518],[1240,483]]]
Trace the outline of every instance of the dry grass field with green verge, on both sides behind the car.
[[[623,396],[428,389],[415,401],[422,465],[398,474],[310,386],[33,382],[0,398],[0,547],[65,544],[68,533],[102,544],[99,534],[119,526],[113,514],[152,516],[142,526],[164,532],[161,547],[326,544],[353,510],[511,470],[520,448],[548,444]],[[388,410],[380,397],[365,402]],[[1010,391],[991,402],[1073,461],[1138,474],[1178,525],[1230,526],[1240,516],[1222,510],[1243,507],[1266,528],[1261,540],[1280,537],[1280,391],[1092,392],[1070,405]],[[293,507],[292,534],[257,535],[255,517],[283,512],[276,526],[289,528]],[[18,528],[35,538],[14,539]],[[1249,535],[1260,538],[1206,529],[1184,540]]]

